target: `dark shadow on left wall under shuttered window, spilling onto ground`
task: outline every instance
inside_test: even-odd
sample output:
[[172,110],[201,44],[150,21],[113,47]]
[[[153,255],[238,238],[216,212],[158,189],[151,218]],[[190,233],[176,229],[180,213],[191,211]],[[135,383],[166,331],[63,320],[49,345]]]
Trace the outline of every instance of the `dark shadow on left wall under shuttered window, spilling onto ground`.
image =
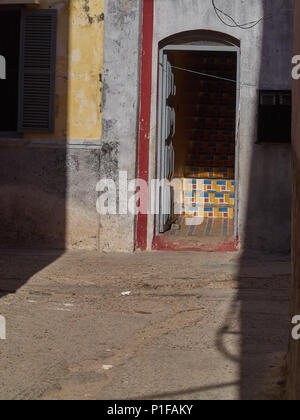
[[[0,7],[0,13],[1,13]],[[67,133],[69,2],[58,11],[56,58],[56,131]],[[7,74],[9,78],[9,73]],[[59,92],[59,95],[58,95]],[[0,248],[2,251],[0,297],[14,293],[31,276],[55,261],[65,248],[66,139],[39,135],[0,139]],[[53,143],[51,144],[51,141]],[[44,142],[44,143],[43,143]],[[52,253],[28,251],[24,264],[14,261],[17,249],[53,249]],[[9,263],[8,263],[9,261]],[[4,274],[5,273],[5,274]]]

